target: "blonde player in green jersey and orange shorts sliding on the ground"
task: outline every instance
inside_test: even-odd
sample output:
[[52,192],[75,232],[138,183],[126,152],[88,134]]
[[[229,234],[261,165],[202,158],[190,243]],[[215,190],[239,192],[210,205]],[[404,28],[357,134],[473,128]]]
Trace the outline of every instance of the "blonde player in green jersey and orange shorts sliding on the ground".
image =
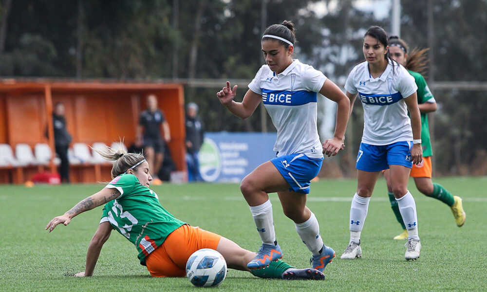
[[[183,277],[189,256],[202,248],[217,250],[229,268],[249,271],[247,263],[255,253],[244,250],[235,242],[218,234],[176,219],[160,204],[152,191],[149,164],[142,154],[126,153],[107,147],[95,150],[107,160],[115,161],[112,182],[101,191],[77,203],[64,215],[55,217],[46,226],[53,231],[57,224],[68,225],[82,212],[105,204],[100,224],[86,255],[85,272],[75,276],[92,276],[103,244],[115,229],[135,245],[140,264],[154,277]],[[323,280],[315,269],[294,269],[283,261],[273,262],[268,269],[250,271],[263,278]]]

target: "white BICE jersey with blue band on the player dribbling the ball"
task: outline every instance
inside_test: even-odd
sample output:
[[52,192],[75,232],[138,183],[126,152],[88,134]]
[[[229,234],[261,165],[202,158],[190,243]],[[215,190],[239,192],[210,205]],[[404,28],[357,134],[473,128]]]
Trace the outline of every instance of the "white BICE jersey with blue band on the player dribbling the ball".
[[317,92],[325,81],[323,73],[294,60],[279,74],[262,65],[248,85],[262,95],[262,103],[277,129],[274,151],[278,156],[304,153],[311,158],[323,157],[316,122]]

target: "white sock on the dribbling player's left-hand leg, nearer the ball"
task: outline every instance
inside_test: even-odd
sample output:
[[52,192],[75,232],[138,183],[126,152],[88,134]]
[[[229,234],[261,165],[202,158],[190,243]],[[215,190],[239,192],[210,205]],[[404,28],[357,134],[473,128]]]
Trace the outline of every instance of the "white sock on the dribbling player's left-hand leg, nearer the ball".
[[267,200],[262,205],[250,207],[250,212],[254,217],[255,226],[257,226],[262,243],[274,245],[276,232],[274,231],[274,219],[272,219],[271,201]]

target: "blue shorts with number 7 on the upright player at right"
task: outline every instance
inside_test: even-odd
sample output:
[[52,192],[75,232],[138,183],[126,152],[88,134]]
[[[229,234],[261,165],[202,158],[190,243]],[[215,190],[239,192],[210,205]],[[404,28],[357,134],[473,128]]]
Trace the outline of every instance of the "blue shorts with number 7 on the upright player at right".
[[360,143],[356,168],[370,172],[389,169],[389,165],[411,168],[411,147],[412,141],[399,141],[389,145]]

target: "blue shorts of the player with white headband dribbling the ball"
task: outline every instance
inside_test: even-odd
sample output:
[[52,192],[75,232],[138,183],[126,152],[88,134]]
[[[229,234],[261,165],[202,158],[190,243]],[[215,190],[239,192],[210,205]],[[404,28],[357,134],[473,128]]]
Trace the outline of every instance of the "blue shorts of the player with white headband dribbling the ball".
[[323,158],[309,158],[298,153],[275,157],[271,162],[291,186],[290,191],[309,194],[310,181],[318,175]]

